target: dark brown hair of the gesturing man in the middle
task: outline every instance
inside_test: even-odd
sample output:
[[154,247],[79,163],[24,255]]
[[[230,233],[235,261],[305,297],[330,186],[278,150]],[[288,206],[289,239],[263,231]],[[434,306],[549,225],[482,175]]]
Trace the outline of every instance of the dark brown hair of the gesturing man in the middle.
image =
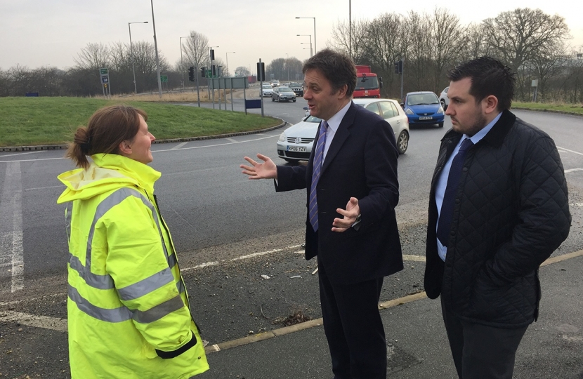
[[346,84],[346,96],[350,98],[356,88],[356,67],[348,55],[339,53],[329,48],[318,51],[312,58],[303,64],[302,74],[308,69],[317,69],[332,85],[334,91],[338,91]]

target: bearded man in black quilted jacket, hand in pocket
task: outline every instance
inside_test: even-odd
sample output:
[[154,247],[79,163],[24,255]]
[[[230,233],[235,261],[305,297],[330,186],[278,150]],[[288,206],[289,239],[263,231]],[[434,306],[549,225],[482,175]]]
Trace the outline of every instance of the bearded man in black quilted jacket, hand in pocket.
[[459,378],[511,379],[538,316],[538,268],[567,238],[567,183],[553,140],[509,111],[514,74],[493,58],[449,73],[452,130],[431,182],[425,290],[441,295]]

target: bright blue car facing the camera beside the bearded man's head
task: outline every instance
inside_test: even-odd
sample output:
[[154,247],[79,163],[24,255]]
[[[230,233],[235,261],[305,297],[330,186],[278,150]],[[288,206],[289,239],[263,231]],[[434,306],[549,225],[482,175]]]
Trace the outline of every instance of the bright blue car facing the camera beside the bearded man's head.
[[429,91],[410,92],[401,104],[409,119],[409,125],[437,124],[443,128],[445,112],[435,93]]

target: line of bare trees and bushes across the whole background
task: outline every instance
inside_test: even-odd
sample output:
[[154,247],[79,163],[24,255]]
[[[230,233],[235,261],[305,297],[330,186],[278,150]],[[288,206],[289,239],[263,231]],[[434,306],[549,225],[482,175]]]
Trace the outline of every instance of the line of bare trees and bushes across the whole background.
[[[537,80],[539,101],[583,102],[583,54],[568,44],[569,29],[559,15],[539,9],[516,8],[495,18],[462,25],[457,15],[443,8],[432,13],[410,11],[405,15],[384,13],[372,20],[339,22],[334,25],[327,46],[351,55],[359,65],[370,65],[384,79],[381,93],[399,98],[401,77],[395,62],[403,61],[404,93],[440,91],[447,86],[447,70],[459,62],[490,55],[509,65],[517,74],[515,100],[532,100],[532,81]],[[159,52],[160,71],[168,77],[165,89],[189,87],[188,68],[195,67],[199,84],[207,84],[199,72],[210,67],[209,39],[191,31],[181,39],[182,58],[170,65]],[[581,47],[579,46],[579,49]],[[579,50],[580,51],[580,50]],[[157,91],[154,45],[146,41],[117,42],[106,46],[88,44],[74,59],[74,67],[28,69],[16,65],[0,69],[0,96],[22,96],[39,92],[43,96],[101,95],[99,69],[109,68],[111,92],[133,93],[133,73],[138,93]],[[221,76],[250,76],[255,67],[237,67],[230,72],[216,57]],[[303,80],[303,62],[277,58],[266,65],[267,79]],[[252,70],[251,70],[252,69]]]

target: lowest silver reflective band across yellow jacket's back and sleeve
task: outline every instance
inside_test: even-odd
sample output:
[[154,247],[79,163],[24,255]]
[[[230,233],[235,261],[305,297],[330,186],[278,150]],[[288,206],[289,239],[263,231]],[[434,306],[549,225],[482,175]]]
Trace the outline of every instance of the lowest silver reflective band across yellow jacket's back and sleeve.
[[171,298],[163,302],[160,305],[157,305],[150,310],[147,311],[140,311],[140,310],[129,310],[127,307],[117,307],[113,309],[106,309],[97,307],[96,305],[91,304],[89,300],[81,296],[77,288],[69,285],[68,290],[69,298],[77,304],[77,307],[81,312],[89,314],[89,316],[93,317],[94,319],[98,319],[100,321],[107,321],[107,322],[123,322],[133,319],[140,324],[150,324],[150,322],[157,321],[162,319],[162,317],[171,314],[172,312],[176,312],[184,307],[184,302],[180,295]]

